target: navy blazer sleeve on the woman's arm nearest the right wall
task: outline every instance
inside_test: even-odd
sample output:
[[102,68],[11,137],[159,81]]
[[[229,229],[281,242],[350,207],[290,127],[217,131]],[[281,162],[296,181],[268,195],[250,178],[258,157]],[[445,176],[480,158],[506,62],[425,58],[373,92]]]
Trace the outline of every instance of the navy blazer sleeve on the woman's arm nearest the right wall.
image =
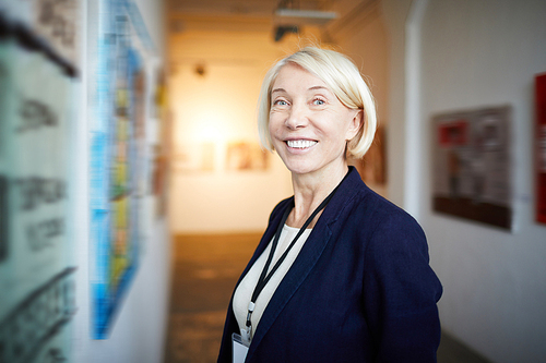
[[405,211],[383,216],[365,251],[364,311],[376,362],[436,362],[442,287],[419,225]]

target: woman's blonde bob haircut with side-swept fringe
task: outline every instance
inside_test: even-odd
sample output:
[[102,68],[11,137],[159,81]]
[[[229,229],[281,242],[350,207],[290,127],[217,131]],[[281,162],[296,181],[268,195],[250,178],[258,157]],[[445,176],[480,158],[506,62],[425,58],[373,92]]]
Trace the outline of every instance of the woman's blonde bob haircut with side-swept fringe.
[[346,107],[363,110],[363,125],[347,144],[347,155],[361,158],[373,141],[377,128],[373,97],[353,61],[336,51],[316,47],[305,47],[280,60],[265,74],[258,104],[258,133],[262,146],[270,152],[274,149],[269,131],[271,90],[278,72],[288,63],[297,64],[322,80]]

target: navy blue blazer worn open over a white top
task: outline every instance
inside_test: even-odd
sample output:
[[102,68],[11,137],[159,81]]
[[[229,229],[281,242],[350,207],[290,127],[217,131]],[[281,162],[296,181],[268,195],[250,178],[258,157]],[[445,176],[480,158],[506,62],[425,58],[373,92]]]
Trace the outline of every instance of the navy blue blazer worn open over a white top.
[[[241,278],[290,201],[271,213]],[[246,362],[436,362],[441,293],[419,225],[351,168],[266,306]],[[218,362],[232,362],[233,332],[230,303]]]

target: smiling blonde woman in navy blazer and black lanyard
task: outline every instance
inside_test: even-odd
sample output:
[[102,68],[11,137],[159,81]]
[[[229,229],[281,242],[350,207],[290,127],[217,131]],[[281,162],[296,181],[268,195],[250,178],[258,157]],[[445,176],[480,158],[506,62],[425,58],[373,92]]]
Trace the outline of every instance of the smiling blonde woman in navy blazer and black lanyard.
[[235,288],[218,362],[436,362],[442,287],[419,225],[347,165],[376,131],[371,94],[319,48],[263,81],[262,144],[292,172]]

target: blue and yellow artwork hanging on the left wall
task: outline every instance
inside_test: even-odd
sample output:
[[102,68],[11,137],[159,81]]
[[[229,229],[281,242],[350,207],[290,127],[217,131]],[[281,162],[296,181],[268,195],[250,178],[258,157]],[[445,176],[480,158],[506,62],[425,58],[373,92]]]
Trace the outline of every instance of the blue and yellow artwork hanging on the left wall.
[[93,338],[108,338],[149,232],[150,63],[154,51],[132,1],[100,0],[91,61],[91,287]]

